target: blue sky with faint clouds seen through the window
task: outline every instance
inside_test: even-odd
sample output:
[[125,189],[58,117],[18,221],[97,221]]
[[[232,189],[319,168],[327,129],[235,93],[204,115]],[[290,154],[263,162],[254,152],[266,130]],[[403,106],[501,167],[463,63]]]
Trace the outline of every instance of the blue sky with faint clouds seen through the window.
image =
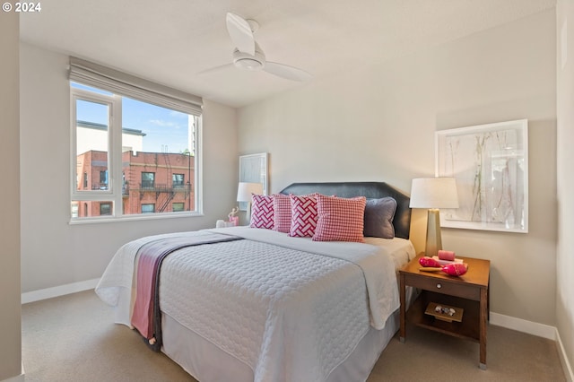
[[[93,88],[74,83],[75,88],[95,91]],[[111,94],[97,91],[100,94]],[[79,101],[76,117],[78,120],[107,125],[107,109],[101,104]],[[122,98],[122,125],[124,128],[141,130],[143,152],[185,152],[189,149],[187,140],[188,116],[171,109],[149,103]],[[166,149],[167,147],[167,149]]]

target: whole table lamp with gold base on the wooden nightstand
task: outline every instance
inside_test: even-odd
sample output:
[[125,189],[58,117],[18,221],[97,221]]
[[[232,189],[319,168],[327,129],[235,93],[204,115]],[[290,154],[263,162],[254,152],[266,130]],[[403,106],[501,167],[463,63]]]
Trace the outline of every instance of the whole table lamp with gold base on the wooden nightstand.
[[415,178],[411,187],[411,208],[428,208],[425,256],[437,256],[442,249],[439,208],[458,208],[455,178]]

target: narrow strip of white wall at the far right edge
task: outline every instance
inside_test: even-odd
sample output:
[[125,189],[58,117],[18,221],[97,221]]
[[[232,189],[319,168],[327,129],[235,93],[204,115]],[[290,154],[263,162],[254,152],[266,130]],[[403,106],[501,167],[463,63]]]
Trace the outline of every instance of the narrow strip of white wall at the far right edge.
[[[562,345],[570,365],[574,365],[574,4],[559,0],[556,15],[559,206],[556,317]],[[569,373],[571,376],[571,369]]]

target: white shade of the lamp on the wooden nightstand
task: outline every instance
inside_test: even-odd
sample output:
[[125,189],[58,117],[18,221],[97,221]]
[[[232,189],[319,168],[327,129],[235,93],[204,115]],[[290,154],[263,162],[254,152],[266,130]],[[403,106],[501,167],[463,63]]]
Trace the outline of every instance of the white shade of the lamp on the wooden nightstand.
[[458,208],[455,178],[415,178],[411,187],[411,208]]

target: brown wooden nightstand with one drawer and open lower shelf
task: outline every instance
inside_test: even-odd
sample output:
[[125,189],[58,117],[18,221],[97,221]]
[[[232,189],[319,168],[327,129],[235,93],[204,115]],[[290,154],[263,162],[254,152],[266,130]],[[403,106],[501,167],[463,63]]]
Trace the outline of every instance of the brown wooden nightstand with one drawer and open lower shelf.
[[[443,272],[420,271],[416,256],[399,270],[401,295],[400,341],[406,339],[406,321],[417,326],[480,343],[480,368],[486,369],[486,323],[489,316],[489,278],[491,262],[470,257],[461,257],[468,264],[468,272],[455,277]],[[406,311],[405,288],[412,286],[421,290],[417,300]],[[431,302],[449,307],[462,308],[460,322],[448,322],[425,314]]]

